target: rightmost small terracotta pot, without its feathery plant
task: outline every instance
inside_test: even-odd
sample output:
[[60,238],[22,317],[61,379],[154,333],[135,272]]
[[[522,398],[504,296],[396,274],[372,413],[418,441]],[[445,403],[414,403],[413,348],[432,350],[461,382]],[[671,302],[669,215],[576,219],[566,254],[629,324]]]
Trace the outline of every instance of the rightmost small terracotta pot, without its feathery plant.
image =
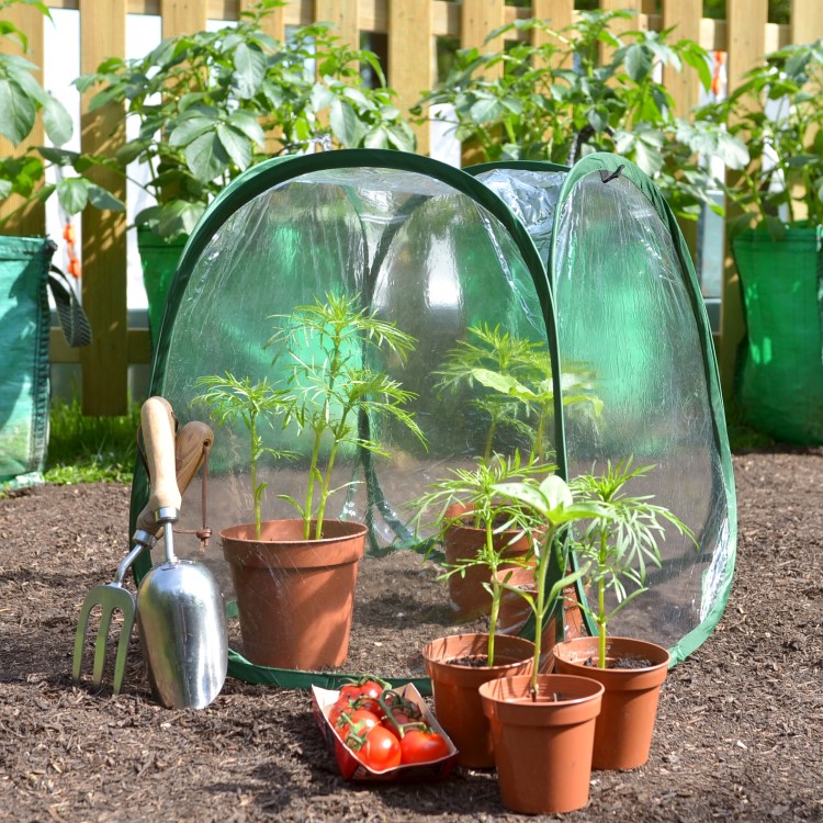
[[[609,638],[607,668],[597,667],[597,638],[576,638],[554,647],[559,674],[597,680],[606,688],[597,719],[593,766],[632,769],[649,759],[657,698],[668,674],[669,654],[654,643],[630,638]],[[647,661],[640,668],[617,668],[622,659]]]

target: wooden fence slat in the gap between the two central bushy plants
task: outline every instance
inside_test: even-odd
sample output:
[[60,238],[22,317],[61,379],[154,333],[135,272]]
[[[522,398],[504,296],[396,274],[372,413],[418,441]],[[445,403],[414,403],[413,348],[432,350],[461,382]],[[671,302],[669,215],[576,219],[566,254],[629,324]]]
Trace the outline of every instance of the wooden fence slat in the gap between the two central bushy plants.
[[[437,49],[431,33],[431,3],[388,0],[388,84],[396,103],[408,111],[437,76]],[[429,124],[414,126],[418,154],[429,154]]]

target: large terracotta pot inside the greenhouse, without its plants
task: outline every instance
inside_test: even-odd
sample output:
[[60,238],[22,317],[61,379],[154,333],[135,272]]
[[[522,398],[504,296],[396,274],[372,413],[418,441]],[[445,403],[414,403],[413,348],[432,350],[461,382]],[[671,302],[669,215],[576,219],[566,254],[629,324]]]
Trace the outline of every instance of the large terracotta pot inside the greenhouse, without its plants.
[[244,654],[259,666],[342,666],[349,651],[358,561],[367,527],[330,520],[322,540],[304,540],[302,520],[224,529]]

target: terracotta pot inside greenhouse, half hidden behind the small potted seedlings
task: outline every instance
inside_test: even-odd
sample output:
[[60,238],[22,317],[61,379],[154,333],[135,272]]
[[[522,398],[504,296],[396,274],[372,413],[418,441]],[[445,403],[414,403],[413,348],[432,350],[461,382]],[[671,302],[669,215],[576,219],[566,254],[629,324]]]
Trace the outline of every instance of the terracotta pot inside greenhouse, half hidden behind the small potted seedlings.
[[[471,522],[471,515],[467,516]],[[521,557],[529,551],[529,540],[517,531],[504,531],[494,535],[494,546],[504,556]],[[486,542],[486,530],[474,526],[452,526],[443,535],[446,564],[453,564],[465,557],[474,557]],[[510,543],[510,544],[509,544]],[[449,599],[452,612],[459,620],[474,620],[481,615],[488,615],[492,608],[492,596],[483,588],[492,579],[486,566],[470,566],[464,574],[459,572],[449,577]]]

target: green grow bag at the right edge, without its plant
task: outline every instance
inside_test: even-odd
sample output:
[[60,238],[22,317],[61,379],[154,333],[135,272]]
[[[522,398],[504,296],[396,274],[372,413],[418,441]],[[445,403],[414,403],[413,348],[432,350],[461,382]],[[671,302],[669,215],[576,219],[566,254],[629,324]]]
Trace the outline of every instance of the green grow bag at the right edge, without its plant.
[[737,396],[752,426],[794,443],[823,443],[822,237],[791,226],[733,240],[747,329]]

